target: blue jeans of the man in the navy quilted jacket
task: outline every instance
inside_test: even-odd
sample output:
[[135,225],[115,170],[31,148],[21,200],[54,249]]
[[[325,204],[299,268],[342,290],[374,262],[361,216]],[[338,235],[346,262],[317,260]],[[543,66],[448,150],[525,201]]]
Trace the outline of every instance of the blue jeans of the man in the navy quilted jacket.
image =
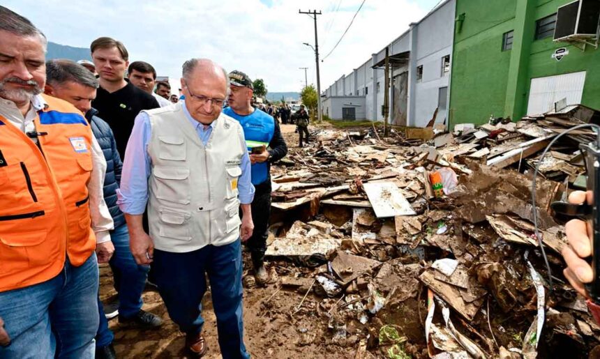
[[[110,259],[110,268],[115,278],[115,289],[119,293],[119,316],[130,318],[142,309],[142,291],[146,287],[149,266],[135,263],[129,249],[129,232],[127,224],[121,224],[110,231],[110,240],[114,245],[114,253]],[[112,343],[114,335],[108,328],[104,309],[98,298],[100,326],[96,335],[96,346],[103,347]]]

